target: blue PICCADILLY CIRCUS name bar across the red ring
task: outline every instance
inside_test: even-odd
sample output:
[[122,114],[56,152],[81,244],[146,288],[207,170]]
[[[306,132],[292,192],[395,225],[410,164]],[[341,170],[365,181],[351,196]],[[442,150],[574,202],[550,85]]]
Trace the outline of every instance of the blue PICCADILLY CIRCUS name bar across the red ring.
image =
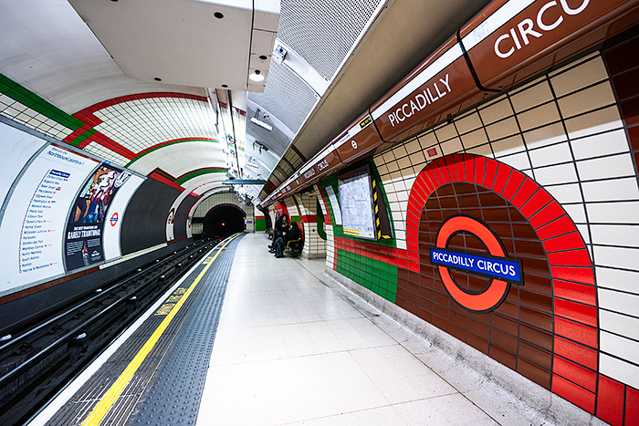
[[469,255],[431,247],[431,264],[462,269],[511,283],[521,283],[521,264],[517,260],[505,257]]

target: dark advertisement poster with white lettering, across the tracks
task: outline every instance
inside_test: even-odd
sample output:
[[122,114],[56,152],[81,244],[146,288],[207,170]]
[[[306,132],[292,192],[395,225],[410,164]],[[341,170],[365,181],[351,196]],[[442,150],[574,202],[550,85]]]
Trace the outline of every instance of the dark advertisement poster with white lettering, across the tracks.
[[73,203],[65,234],[67,271],[103,262],[102,233],[107,212],[116,192],[131,173],[102,164],[89,176]]

